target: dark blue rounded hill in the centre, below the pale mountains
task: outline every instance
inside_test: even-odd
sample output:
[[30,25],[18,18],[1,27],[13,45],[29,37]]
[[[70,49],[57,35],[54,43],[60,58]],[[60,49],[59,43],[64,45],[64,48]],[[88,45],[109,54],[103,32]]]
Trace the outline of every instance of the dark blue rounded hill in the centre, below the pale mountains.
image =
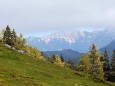
[[67,62],[70,59],[73,60],[74,63],[78,63],[79,58],[81,57],[81,55],[83,55],[83,53],[79,53],[77,51],[73,51],[70,49],[65,49],[61,51],[45,51],[43,52],[43,54],[46,58],[48,58],[48,56],[53,56],[53,55],[61,56],[62,54],[65,62]]

